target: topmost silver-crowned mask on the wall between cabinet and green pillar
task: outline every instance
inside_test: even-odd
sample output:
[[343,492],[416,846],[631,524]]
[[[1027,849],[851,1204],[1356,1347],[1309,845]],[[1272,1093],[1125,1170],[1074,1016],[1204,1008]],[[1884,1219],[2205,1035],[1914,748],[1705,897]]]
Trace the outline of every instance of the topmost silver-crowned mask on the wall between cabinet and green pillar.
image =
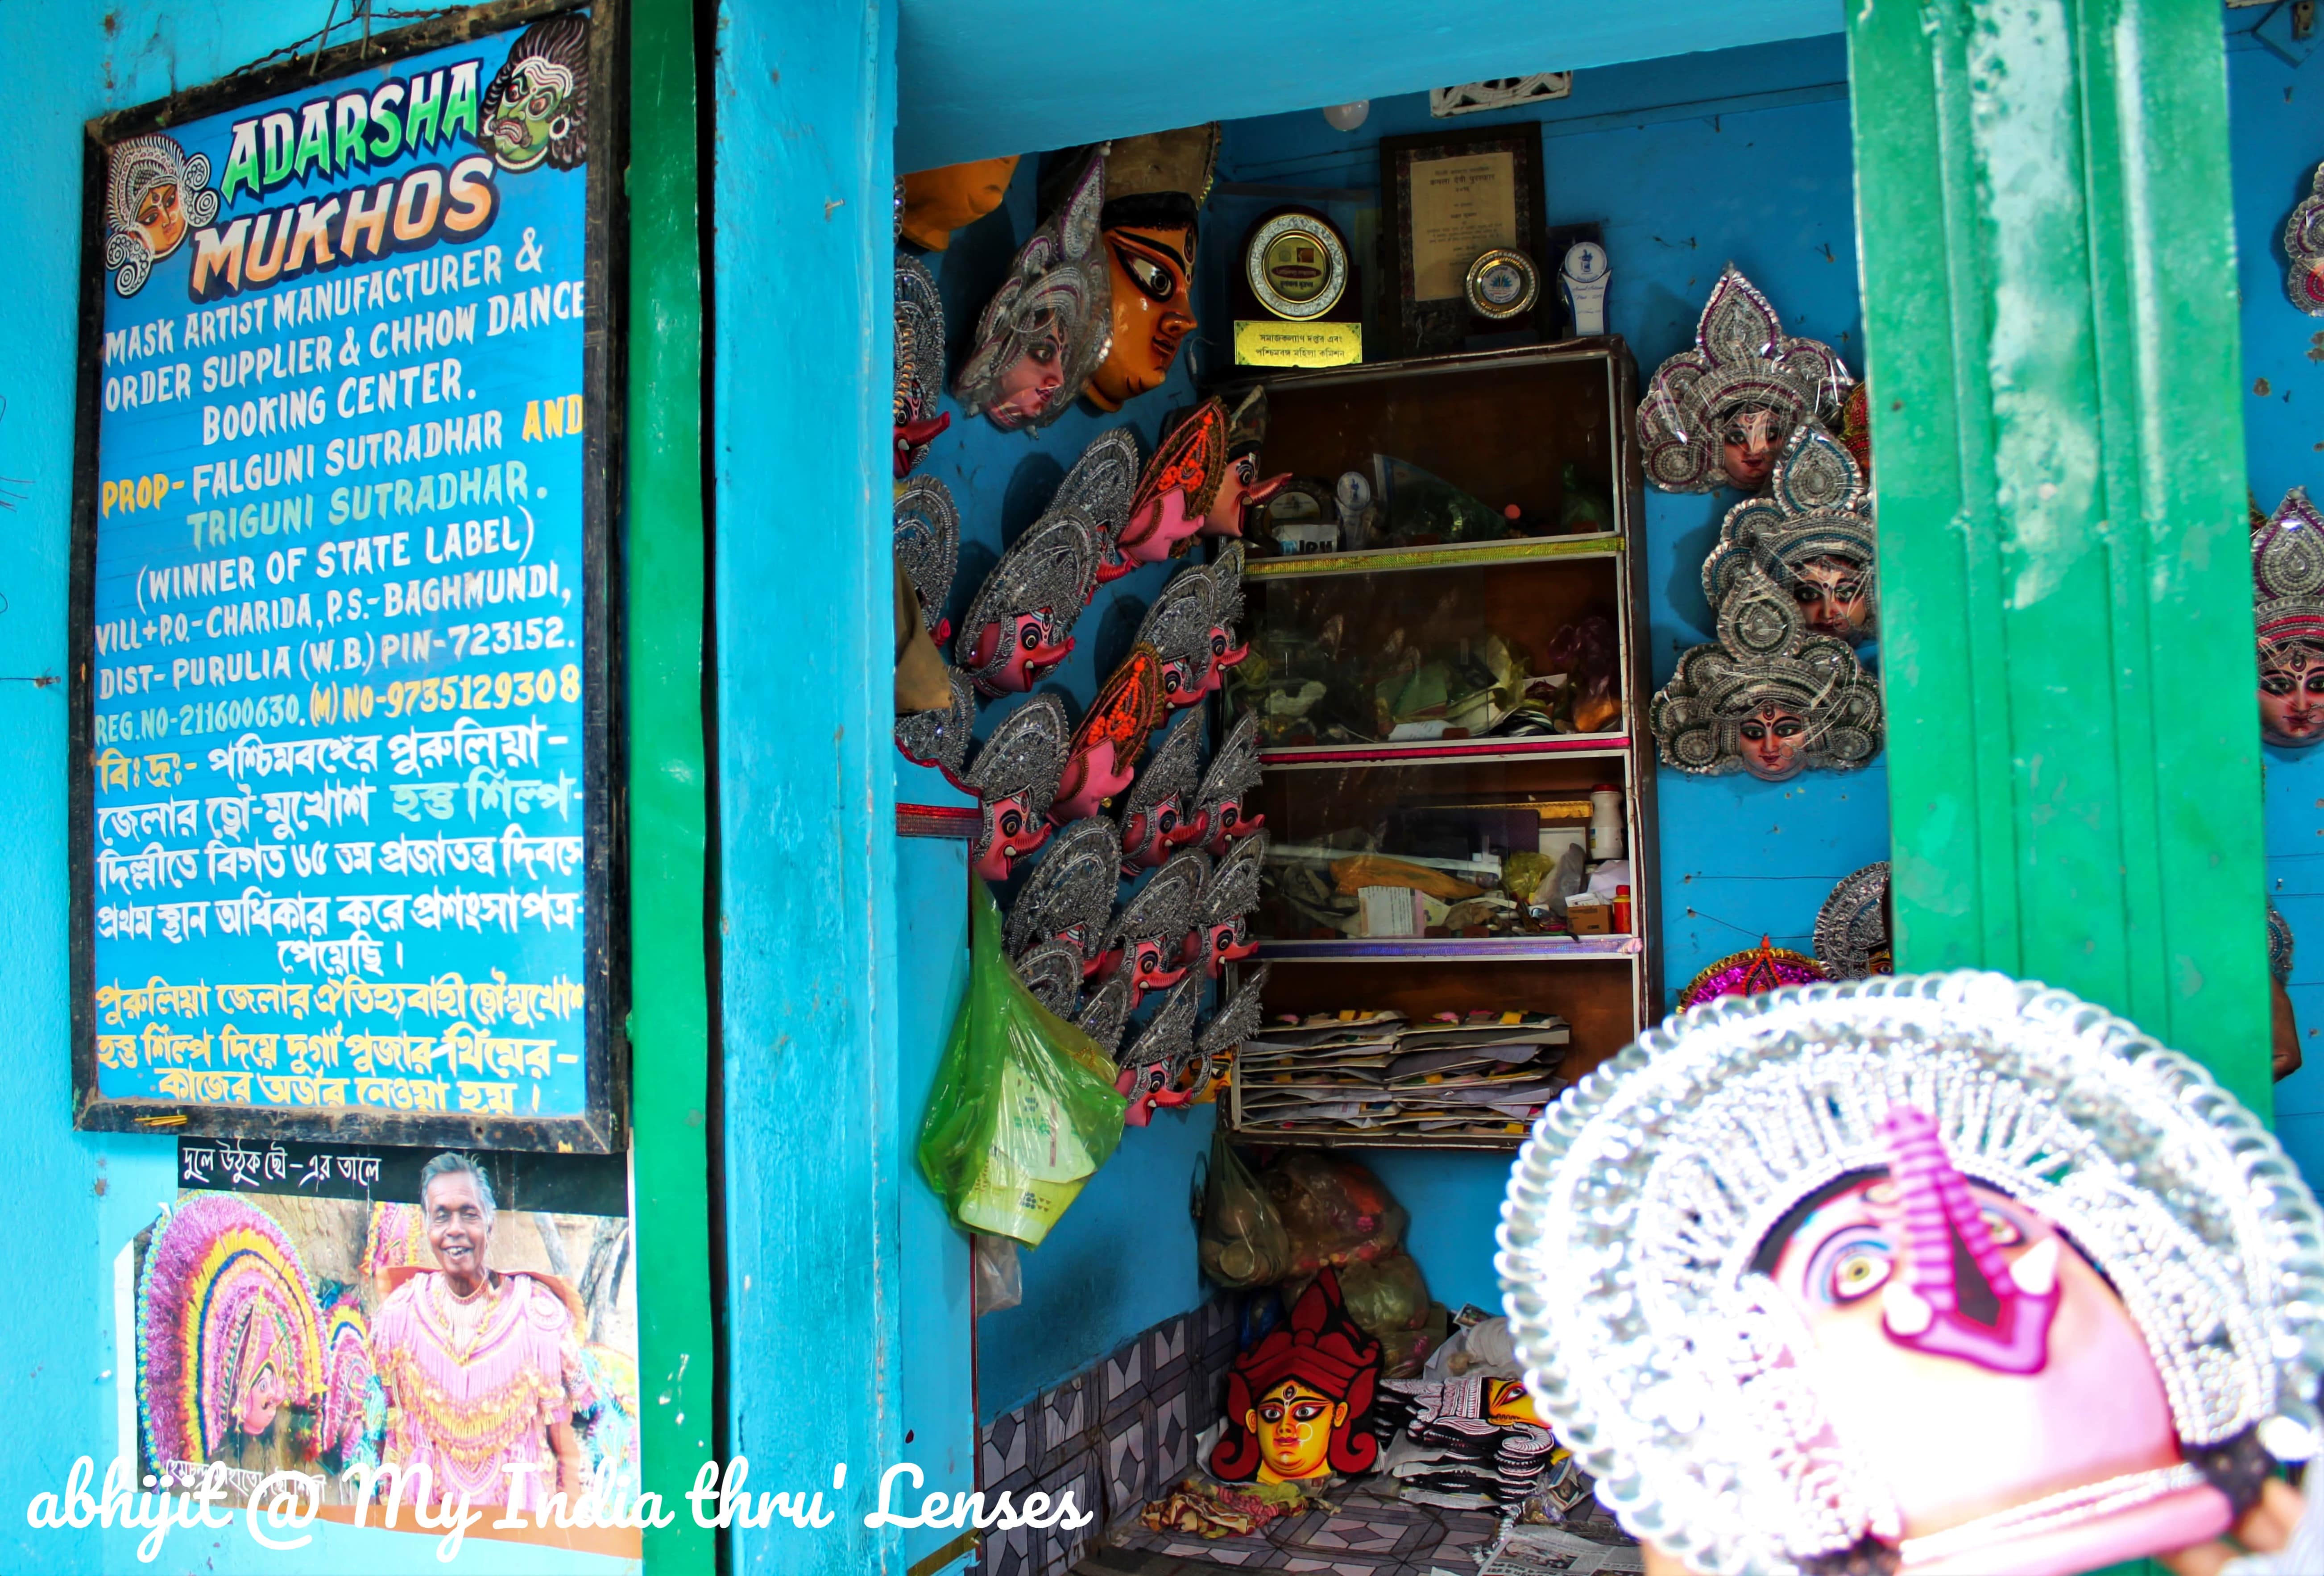
[[1664,493],[1759,493],[1801,421],[1831,425],[1855,386],[1822,339],[1794,339],[1734,263],[1694,344],[1655,370],[1638,402],[1645,479]]

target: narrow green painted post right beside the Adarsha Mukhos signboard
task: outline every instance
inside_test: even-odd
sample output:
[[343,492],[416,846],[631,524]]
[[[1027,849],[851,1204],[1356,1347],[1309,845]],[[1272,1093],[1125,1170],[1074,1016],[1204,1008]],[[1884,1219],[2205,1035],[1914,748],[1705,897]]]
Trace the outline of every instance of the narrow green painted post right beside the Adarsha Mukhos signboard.
[[716,1450],[702,755],[702,230],[695,7],[630,5],[627,642],[637,1378],[648,1576],[709,1576],[683,1495]]

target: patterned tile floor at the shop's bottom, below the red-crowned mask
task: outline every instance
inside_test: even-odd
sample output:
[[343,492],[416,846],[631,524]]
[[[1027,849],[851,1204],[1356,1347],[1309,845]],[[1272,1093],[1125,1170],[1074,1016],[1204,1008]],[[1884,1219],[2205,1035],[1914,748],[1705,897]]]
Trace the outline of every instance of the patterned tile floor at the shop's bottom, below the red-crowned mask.
[[[1604,1543],[1631,1539],[1599,1509],[1569,1520]],[[1315,1571],[1318,1576],[1473,1576],[1501,1520],[1492,1511],[1439,1511],[1369,1490],[1346,1492],[1336,1509],[1269,1525],[1257,1536],[1204,1541],[1183,1532],[1146,1532],[1134,1520],[1090,1550],[1074,1576],[1213,1576],[1220,1569]]]

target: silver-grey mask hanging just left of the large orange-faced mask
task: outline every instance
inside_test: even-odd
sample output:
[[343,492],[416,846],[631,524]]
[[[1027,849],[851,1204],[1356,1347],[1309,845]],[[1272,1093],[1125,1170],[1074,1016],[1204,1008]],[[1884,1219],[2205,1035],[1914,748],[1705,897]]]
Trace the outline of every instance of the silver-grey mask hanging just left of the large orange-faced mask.
[[1081,179],[1018,251],[1009,279],[976,318],[976,346],[953,397],[1004,432],[1062,416],[1113,346],[1113,279],[1097,239],[1106,160]]

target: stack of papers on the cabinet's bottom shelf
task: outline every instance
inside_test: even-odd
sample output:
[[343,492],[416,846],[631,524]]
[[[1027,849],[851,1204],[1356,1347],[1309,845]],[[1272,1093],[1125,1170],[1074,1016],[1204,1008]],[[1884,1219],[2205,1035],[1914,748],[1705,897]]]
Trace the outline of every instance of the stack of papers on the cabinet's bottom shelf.
[[1234,1062],[1243,1132],[1522,1137],[1564,1090],[1557,1013],[1397,1011],[1276,1020]]

